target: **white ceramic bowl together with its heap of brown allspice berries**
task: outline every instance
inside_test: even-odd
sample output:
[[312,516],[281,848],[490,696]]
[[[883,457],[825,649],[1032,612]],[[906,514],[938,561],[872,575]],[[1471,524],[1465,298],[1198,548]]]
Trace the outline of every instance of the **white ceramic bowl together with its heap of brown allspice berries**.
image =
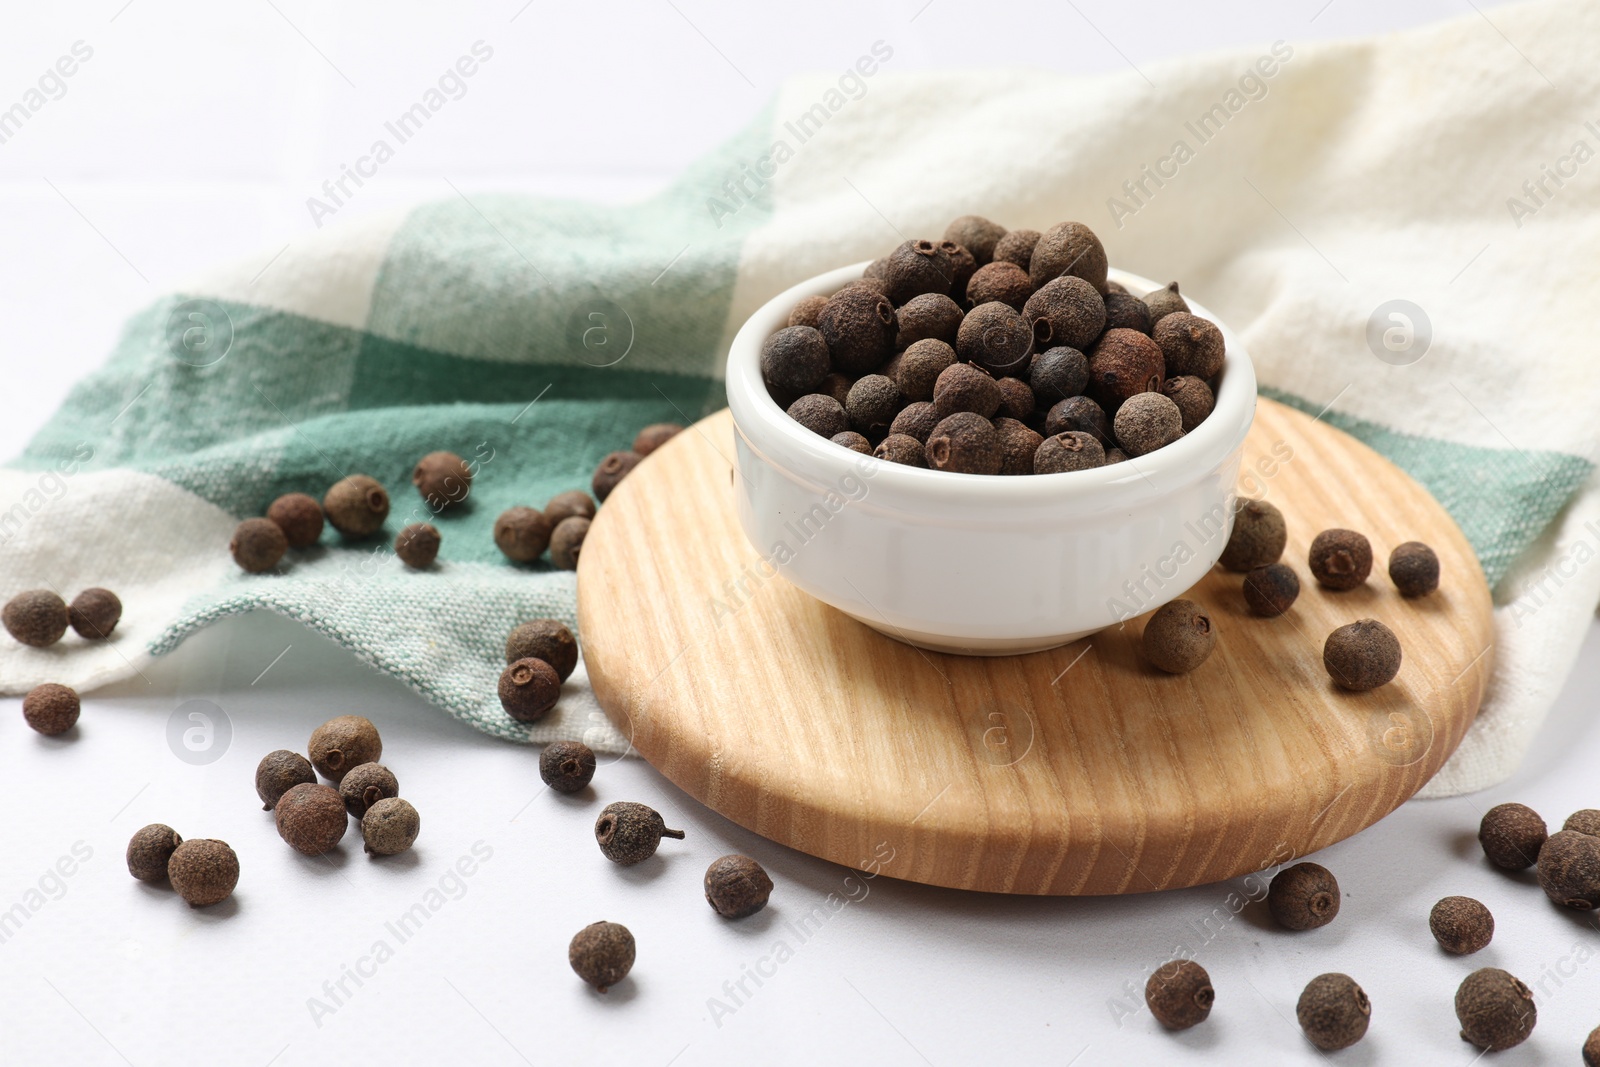
[[[939,651],[1014,654],[1118,622],[1123,579],[1230,514],[1256,376],[1090,227],[942,238],[803,282],[728,355],[739,518],[763,565]],[[1174,597],[1216,563],[1182,560]]]

